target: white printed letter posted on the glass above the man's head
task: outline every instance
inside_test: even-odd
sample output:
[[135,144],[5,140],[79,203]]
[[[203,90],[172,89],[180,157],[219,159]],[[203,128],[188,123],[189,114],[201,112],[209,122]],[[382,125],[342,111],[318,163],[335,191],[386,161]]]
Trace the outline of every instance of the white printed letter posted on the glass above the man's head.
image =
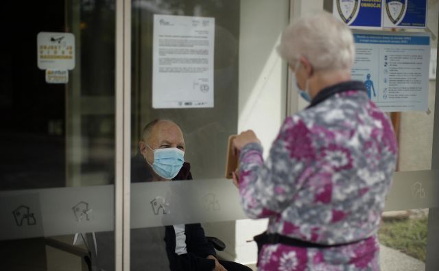
[[215,19],[154,15],[152,107],[213,107]]

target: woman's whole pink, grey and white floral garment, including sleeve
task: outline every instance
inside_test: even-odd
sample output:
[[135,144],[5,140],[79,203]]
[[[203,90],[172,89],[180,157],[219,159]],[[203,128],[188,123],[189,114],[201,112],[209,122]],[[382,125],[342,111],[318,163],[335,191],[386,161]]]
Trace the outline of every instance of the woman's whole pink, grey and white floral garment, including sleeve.
[[326,245],[265,244],[259,270],[379,270],[376,237],[397,147],[392,123],[359,90],[344,90],[287,117],[266,161],[241,149],[239,193],[268,233]]

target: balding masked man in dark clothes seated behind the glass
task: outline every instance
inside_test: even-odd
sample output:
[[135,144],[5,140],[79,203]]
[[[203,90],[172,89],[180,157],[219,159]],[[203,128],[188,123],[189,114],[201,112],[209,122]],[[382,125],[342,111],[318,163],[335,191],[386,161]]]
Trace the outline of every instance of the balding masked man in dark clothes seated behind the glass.
[[[148,123],[139,150],[132,159],[132,182],[192,179],[190,165],[184,161],[185,139],[173,121],[156,119]],[[200,224],[166,226],[165,246],[171,270],[251,270],[218,260]]]

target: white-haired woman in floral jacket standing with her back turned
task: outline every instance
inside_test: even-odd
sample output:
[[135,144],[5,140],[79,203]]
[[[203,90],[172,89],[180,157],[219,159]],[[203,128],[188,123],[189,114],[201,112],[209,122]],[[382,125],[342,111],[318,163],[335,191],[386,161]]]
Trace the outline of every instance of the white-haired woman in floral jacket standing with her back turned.
[[255,237],[259,270],[379,270],[397,147],[388,117],[351,81],[353,36],[322,12],[289,25],[278,51],[310,104],[285,119],[267,161],[251,130],[233,141],[242,207],[269,218]]

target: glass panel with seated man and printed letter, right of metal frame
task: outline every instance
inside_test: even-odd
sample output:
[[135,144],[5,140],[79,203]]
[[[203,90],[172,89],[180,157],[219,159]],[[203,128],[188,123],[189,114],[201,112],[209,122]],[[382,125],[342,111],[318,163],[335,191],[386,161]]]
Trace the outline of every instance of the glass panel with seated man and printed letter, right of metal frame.
[[[226,146],[230,134],[252,127],[268,148],[285,117],[287,66],[275,48],[288,7],[288,1],[132,1],[131,270],[185,269],[190,259],[208,264],[215,250],[205,248],[211,247],[205,236],[226,244],[218,257],[254,263],[256,246],[246,240],[266,222],[244,220],[237,189],[224,178]],[[182,132],[165,121],[144,130],[154,119],[174,121]],[[190,167],[185,163],[174,179],[193,180],[152,182],[172,176],[160,177],[166,172],[154,156],[167,154],[152,149],[180,148],[182,139]]]

